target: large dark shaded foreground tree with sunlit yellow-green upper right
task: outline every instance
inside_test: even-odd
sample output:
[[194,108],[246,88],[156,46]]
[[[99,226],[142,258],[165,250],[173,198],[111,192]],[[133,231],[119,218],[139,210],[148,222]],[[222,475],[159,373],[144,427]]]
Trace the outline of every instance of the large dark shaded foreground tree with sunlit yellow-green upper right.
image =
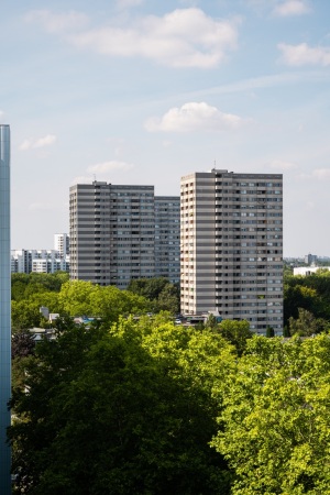
[[219,334],[166,314],[110,331],[69,320],[22,361],[28,393],[14,389],[9,429],[18,492],[228,494],[210,391],[234,361]]

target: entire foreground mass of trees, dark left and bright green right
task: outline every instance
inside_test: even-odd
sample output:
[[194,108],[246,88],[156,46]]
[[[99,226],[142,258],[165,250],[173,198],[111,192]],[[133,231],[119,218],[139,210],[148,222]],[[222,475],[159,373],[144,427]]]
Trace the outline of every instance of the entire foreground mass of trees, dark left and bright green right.
[[167,312],[57,323],[13,359],[14,493],[330,493],[328,334]]

